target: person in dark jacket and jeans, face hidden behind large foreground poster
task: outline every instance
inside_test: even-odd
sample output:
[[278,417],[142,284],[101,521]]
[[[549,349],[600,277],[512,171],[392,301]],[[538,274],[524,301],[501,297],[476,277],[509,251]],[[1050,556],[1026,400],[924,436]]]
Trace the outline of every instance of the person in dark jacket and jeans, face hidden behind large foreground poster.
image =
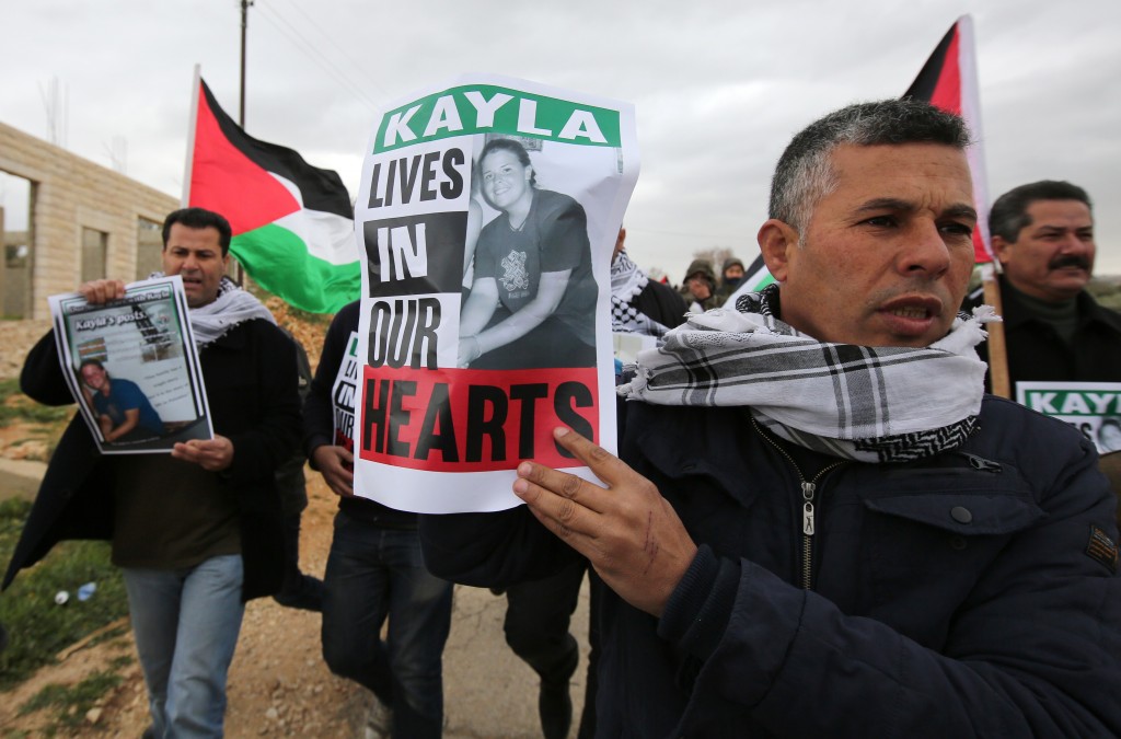
[[323,658],[331,672],[373,693],[367,739],[439,737],[452,583],[425,569],[416,514],[354,495],[353,442],[350,429],[336,425],[336,418],[353,423],[354,408],[340,405],[352,394],[335,389],[356,381],[345,375],[360,310],[360,302],[350,303],[331,322],[304,403],[304,447],[339,496],[323,578]]

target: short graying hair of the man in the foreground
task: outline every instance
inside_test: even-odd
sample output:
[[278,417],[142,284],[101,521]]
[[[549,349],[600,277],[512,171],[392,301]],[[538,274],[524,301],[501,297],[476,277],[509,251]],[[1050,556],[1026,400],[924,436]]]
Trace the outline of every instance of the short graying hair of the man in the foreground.
[[836,187],[830,155],[842,144],[921,142],[961,150],[970,145],[969,128],[961,117],[912,98],[855,103],[819,118],[779,157],[771,179],[770,218],[803,233],[814,206]]

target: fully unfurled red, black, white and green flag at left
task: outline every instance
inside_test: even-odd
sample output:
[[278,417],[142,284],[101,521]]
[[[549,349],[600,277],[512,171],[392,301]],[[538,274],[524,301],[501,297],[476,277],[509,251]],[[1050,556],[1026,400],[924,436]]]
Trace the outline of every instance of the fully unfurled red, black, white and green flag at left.
[[336,313],[358,299],[354,209],[339,175],[245,133],[201,77],[194,108],[184,202],[224,215],[233,256],[297,308]]

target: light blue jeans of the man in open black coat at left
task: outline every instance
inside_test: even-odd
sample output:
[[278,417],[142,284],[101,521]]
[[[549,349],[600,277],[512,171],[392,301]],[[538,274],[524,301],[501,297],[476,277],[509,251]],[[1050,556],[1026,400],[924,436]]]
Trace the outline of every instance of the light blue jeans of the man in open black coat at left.
[[241,555],[186,570],[122,572],[155,736],[221,737],[225,678],[245,610]]

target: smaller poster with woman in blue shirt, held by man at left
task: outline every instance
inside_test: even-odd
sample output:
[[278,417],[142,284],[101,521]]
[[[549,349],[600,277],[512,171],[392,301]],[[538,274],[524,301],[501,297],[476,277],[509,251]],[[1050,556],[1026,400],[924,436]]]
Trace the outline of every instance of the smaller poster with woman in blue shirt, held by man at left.
[[63,377],[102,453],[214,437],[178,275],[126,285],[101,305],[78,293],[48,302]]

